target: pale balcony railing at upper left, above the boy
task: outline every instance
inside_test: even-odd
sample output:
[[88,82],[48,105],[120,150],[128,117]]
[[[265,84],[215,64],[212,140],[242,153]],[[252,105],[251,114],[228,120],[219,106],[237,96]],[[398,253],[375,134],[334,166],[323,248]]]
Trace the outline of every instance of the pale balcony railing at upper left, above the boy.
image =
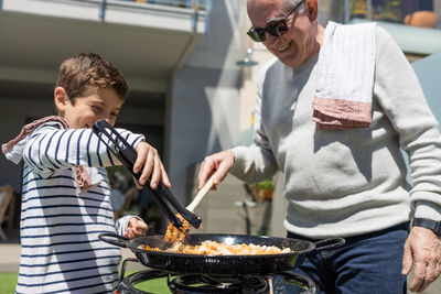
[[[180,24],[187,19],[190,30],[204,33],[212,0],[0,0],[0,9],[162,29],[187,30],[187,25]],[[173,18],[178,26],[166,21],[168,18]]]

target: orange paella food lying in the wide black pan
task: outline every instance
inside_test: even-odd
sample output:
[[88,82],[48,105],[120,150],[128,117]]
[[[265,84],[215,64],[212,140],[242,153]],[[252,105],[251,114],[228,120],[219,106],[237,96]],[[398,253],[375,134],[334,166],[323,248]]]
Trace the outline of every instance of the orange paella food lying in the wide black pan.
[[211,240],[203,241],[197,246],[187,246],[182,242],[174,242],[172,247],[165,250],[151,248],[149,246],[140,246],[139,248],[151,251],[206,255],[261,255],[293,252],[290,248],[280,249],[276,246],[259,246],[254,243],[226,244]]

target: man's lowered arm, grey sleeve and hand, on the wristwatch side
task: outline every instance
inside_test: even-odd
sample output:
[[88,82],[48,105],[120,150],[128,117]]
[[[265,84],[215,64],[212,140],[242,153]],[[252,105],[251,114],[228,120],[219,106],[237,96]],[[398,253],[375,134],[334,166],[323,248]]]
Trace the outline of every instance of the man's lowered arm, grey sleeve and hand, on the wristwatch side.
[[[399,133],[409,155],[412,189],[410,203],[415,216],[441,220],[441,135],[439,123],[424,99],[418,78],[394,40],[384,29],[377,46],[378,101]],[[381,36],[383,35],[383,36]],[[413,227],[406,241],[402,274],[415,264],[409,288],[421,292],[441,272],[440,239],[433,231]]]

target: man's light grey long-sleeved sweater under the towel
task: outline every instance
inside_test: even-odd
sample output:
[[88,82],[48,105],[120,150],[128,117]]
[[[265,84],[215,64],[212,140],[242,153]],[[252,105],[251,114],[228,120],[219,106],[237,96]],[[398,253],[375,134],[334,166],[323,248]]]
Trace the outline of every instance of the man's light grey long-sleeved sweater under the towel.
[[[247,182],[284,173],[284,226],[311,237],[348,237],[418,217],[441,220],[441,137],[418,78],[391,36],[376,29],[373,123],[320,131],[312,119],[318,55],[278,59],[258,78],[255,144],[237,146],[232,173]],[[406,182],[410,159],[412,188]]]

